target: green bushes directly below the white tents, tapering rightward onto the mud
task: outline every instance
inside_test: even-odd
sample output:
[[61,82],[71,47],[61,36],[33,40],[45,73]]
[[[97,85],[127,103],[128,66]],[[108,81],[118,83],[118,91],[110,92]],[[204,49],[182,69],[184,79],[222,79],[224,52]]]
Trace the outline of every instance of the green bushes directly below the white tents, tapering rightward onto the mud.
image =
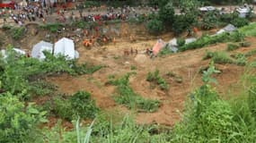
[[45,53],[47,58],[44,61],[24,56],[17,59],[12,48],[7,50],[7,54],[8,57],[6,59],[0,59],[0,67],[3,69],[0,71],[0,79],[3,82],[2,88],[11,93],[19,93],[23,90],[32,94],[40,94],[40,92],[49,93],[50,88],[45,88],[45,91],[41,91],[37,88],[42,88],[43,85],[31,83],[56,73],[67,72],[71,75],[90,74],[102,68],[99,65],[89,66],[86,63],[79,65],[75,61],[66,61],[65,56],[55,57],[49,53]]

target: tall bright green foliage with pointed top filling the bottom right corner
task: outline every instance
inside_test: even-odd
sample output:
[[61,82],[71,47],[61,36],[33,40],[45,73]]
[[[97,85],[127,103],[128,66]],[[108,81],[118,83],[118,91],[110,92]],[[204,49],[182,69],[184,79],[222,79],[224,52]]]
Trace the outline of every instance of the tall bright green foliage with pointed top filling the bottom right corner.
[[[204,71],[204,85],[191,93],[191,102],[181,123],[174,128],[172,142],[253,142],[255,118],[247,96],[231,102],[221,99],[209,83],[217,72],[211,65]],[[245,98],[245,99],[244,99]],[[252,100],[252,103],[255,102]],[[253,108],[253,107],[252,107]],[[251,108],[251,109],[252,109]]]

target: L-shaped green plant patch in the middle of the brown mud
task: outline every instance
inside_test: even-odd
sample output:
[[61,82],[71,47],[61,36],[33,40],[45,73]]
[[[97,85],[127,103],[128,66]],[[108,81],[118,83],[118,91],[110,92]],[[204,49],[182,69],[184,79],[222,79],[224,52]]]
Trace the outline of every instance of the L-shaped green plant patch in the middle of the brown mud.
[[137,109],[143,112],[154,112],[158,109],[159,101],[145,99],[139,96],[129,87],[128,81],[132,73],[128,73],[117,80],[110,80],[111,85],[117,86],[114,99],[120,105],[126,105],[129,109]]

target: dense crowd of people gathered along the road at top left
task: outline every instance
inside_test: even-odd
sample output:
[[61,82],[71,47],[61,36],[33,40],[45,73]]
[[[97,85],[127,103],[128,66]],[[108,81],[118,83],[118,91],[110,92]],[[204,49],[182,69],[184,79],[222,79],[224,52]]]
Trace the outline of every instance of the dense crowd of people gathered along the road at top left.
[[[82,6],[81,6],[82,5]],[[4,23],[8,21],[14,21],[15,23],[22,25],[25,22],[30,21],[43,21],[49,22],[48,17],[53,17],[51,20],[58,22],[66,21],[112,21],[122,20],[126,21],[128,18],[137,16],[141,13],[137,13],[136,8],[127,5],[121,8],[105,7],[101,6],[87,8],[84,10],[84,5],[75,5],[72,10],[66,11],[66,7],[49,8],[49,6],[43,4],[27,4],[25,6],[17,6],[15,4],[15,10],[2,9],[0,10],[0,18],[4,20]],[[96,10],[96,11],[95,11]],[[154,11],[154,9],[152,9]],[[55,12],[55,14],[53,14]],[[88,12],[88,13],[86,13]],[[79,13],[79,14],[78,14]],[[50,21],[54,22],[54,21]]]

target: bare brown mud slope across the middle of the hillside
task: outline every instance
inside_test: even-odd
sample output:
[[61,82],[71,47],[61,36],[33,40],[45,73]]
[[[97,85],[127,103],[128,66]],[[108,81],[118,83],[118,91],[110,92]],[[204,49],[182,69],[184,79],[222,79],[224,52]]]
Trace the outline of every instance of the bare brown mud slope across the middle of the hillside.
[[[246,40],[250,41],[252,46],[240,48],[233,53],[245,53],[252,50],[256,46],[255,39],[247,38]],[[189,98],[190,91],[202,84],[199,70],[207,67],[209,63],[208,60],[202,60],[206,50],[225,50],[226,44],[217,44],[193,51],[150,59],[143,54],[143,50],[148,46],[154,46],[154,42],[155,40],[137,41],[135,43],[119,41],[116,45],[109,45],[104,49],[92,50],[79,47],[78,51],[81,55],[79,62],[102,64],[106,67],[100,71],[96,71],[93,75],[72,77],[65,74],[58,77],[51,77],[48,80],[57,84],[60,91],[65,93],[71,94],[77,90],[91,92],[97,105],[102,110],[121,110],[128,112],[122,105],[116,105],[111,98],[115,87],[106,86],[105,83],[110,75],[123,75],[131,71],[131,66],[136,66],[137,70],[135,71],[137,74],[130,78],[130,86],[142,97],[158,99],[162,103],[158,111],[154,113],[137,113],[137,122],[156,122],[173,125],[181,119],[180,115],[183,110],[184,101]],[[137,47],[139,54],[124,56],[123,50],[128,47]],[[216,88],[220,95],[225,97],[228,88],[237,86],[239,78],[243,74],[244,67],[233,64],[216,64],[216,68],[222,71],[216,75],[216,80],[218,81]],[[170,89],[167,92],[163,92],[157,88],[150,88],[150,84],[146,81],[147,72],[154,71],[155,69],[158,69],[169,83]],[[181,76],[182,82],[179,83],[173,78],[164,76],[169,71]]]

